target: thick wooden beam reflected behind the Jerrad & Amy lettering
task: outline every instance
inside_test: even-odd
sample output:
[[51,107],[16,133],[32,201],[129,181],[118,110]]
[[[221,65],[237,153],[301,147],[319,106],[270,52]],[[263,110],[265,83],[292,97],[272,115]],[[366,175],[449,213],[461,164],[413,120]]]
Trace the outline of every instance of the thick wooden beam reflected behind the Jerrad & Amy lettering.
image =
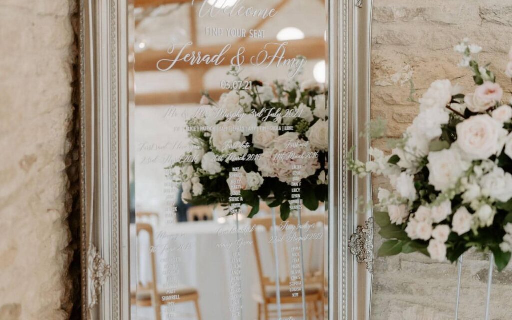
[[[277,42],[277,41],[276,41]],[[250,63],[250,58],[258,55],[265,45],[268,44],[268,41],[254,41],[247,42],[243,45],[233,45],[233,47],[229,50],[228,54],[226,54],[223,62],[220,63],[220,66],[230,66],[231,58],[236,52],[238,52],[238,48],[245,47],[245,53],[243,57],[245,58],[245,65]],[[210,55],[214,56],[219,54],[225,45],[221,46],[208,46],[208,47],[189,47],[189,49],[185,50],[184,54],[192,53],[192,52],[201,52],[202,56]],[[270,53],[271,50],[276,49],[277,46],[269,47]],[[303,40],[292,40],[288,41],[288,46],[286,46],[285,58],[291,59],[296,56],[302,55],[307,59],[322,59],[325,58],[326,54],[326,43],[323,38],[306,38]],[[175,52],[179,50],[175,50]],[[230,55],[229,55],[230,54]],[[155,50],[146,50],[135,55],[135,71],[143,72],[143,71],[158,71],[157,63],[161,59],[175,58],[176,54],[169,57],[167,51],[155,51]],[[216,67],[215,65],[195,65],[190,66],[188,62],[179,61],[176,63],[174,70],[180,69],[189,69],[189,68],[206,68],[210,69]]]

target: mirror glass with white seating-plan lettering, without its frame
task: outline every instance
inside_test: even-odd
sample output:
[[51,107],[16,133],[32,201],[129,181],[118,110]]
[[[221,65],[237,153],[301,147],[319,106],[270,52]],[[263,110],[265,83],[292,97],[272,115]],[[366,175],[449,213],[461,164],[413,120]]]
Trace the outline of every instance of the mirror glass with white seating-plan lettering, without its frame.
[[137,319],[328,317],[324,1],[138,1]]

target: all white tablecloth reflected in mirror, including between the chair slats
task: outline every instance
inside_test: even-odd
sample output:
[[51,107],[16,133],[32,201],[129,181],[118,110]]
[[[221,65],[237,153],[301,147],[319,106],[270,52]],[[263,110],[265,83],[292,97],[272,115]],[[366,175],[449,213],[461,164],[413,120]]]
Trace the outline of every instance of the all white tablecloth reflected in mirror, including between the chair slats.
[[[250,220],[244,219],[240,223],[239,241],[241,243],[240,254],[242,264],[242,301],[244,320],[256,320],[258,314],[258,303],[261,302],[261,287],[258,273],[252,234],[250,231]],[[191,222],[178,223],[170,226],[155,227],[155,244],[157,247],[157,274],[159,288],[168,288],[165,285],[162,261],[180,258],[179,263],[179,285],[194,287],[200,295],[200,307],[203,318],[208,320],[230,320],[229,311],[231,301],[229,299],[231,286],[231,259],[233,253],[237,252],[237,232],[234,223],[219,224],[217,222]],[[263,233],[260,233],[262,231]],[[273,259],[273,248],[269,239],[266,238],[264,230],[258,229],[259,248],[264,275],[275,279],[275,261]],[[305,231],[305,236],[310,233],[321,232],[321,239],[304,242],[305,269],[306,272],[322,269],[325,263],[324,241],[327,240],[327,229],[323,224]],[[283,235],[278,231],[278,238]],[[149,250],[149,239],[144,234],[139,236],[137,244],[135,232],[132,232],[132,248],[138,245],[139,248],[139,282],[147,283],[152,281],[151,260]],[[280,276],[284,280],[289,276],[292,247],[299,245],[297,241],[286,242],[286,245],[279,245],[280,255]],[[178,250],[177,248],[183,248]],[[285,254],[288,251],[288,254]],[[133,251],[132,251],[133,252]],[[134,257],[135,254],[132,254]],[[132,266],[136,261],[132,258]],[[132,270],[135,268],[132,267]],[[132,279],[135,277],[132,276]],[[135,282],[132,282],[132,286]],[[193,305],[178,304],[177,312],[180,314],[195,314]],[[141,311],[138,311],[141,315]],[[144,312],[146,313],[146,312]],[[165,311],[164,311],[165,313]],[[147,313],[146,313],[147,314]],[[152,318],[150,317],[140,317]],[[181,319],[181,317],[179,317]],[[183,317],[185,319],[185,317]]]

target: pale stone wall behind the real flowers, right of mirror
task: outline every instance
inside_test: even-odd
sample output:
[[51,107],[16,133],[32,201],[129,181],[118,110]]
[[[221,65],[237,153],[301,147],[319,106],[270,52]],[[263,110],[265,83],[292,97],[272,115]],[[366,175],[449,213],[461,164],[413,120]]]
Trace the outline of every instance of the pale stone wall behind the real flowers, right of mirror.
[[[505,92],[512,89],[503,70],[512,45],[512,1],[374,0],[372,40],[372,117],[388,121],[388,136],[399,137],[418,113],[409,102],[410,81],[416,100],[430,83],[450,79],[471,88],[468,70],[453,47],[468,37],[484,48],[480,60],[492,61]],[[458,79],[459,77],[462,77]],[[510,98],[506,93],[505,99]],[[374,146],[386,149],[386,139]],[[375,190],[387,182],[375,179]],[[374,195],[376,199],[376,195]],[[378,228],[378,227],[377,227]],[[376,230],[378,231],[378,230]],[[376,236],[376,247],[382,239]],[[459,319],[484,318],[488,262],[482,254],[465,256]],[[512,268],[494,275],[493,320],[512,316]],[[453,319],[457,267],[419,255],[379,258],[375,264],[373,320]]]

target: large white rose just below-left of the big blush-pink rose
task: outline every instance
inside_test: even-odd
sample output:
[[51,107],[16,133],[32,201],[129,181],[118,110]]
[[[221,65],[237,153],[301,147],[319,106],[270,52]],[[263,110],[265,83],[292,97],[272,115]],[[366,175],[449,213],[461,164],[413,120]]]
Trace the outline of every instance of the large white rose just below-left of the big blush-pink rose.
[[429,154],[429,183],[437,191],[453,187],[462,177],[470,164],[463,161],[455,148]]

